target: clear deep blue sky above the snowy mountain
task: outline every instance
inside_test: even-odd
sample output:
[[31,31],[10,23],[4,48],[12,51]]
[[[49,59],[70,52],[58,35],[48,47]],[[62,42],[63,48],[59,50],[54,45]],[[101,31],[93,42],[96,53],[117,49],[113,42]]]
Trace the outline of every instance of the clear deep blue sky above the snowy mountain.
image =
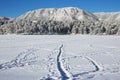
[[78,7],[89,12],[120,12],[120,0],[0,0],[0,16],[16,18],[40,8]]

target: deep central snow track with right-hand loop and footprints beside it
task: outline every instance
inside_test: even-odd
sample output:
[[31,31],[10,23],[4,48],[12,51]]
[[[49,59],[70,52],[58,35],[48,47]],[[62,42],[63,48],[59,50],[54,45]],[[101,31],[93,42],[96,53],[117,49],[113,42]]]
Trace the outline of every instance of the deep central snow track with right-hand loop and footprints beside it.
[[[94,70],[91,70],[91,71],[86,71],[86,72],[81,72],[81,73],[78,73],[78,74],[71,74],[68,70],[70,70],[70,68],[69,67],[67,67],[67,68],[65,68],[64,67],[64,65],[63,65],[63,62],[62,62],[62,60],[65,60],[66,61],[66,59],[67,58],[62,58],[61,57],[61,55],[62,55],[62,48],[63,48],[63,45],[61,45],[60,47],[59,47],[59,51],[58,51],[58,55],[57,55],[57,69],[58,69],[58,71],[59,71],[59,73],[60,73],[60,77],[58,77],[57,79],[61,79],[61,80],[79,80],[80,78],[79,77],[83,77],[84,75],[88,78],[88,79],[90,79],[90,78],[93,78],[94,77],[94,75],[90,75],[89,76],[89,74],[90,73],[95,73],[95,72],[98,72],[98,71],[101,71],[102,70],[102,67],[100,67],[99,65],[98,65],[98,63],[96,62],[96,61],[94,61],[93,59],[91,59],[90,57],[87,57],[87,56],[72,56],[72,57],[68,57],[69,59],[71,59],[71,58],[76,58],[76,57],[79,57],[79,58],[84,58],[84,59],[87,59],[88,61],[89,61],[89,63],[91,64],[91,65],[93,65],[94,66]],[[52,54],[50,54],[50,56],[52,56],[53,55],[53,53]],[[51,59],[53,59],[52,57],[50,57],[49,56],[49,60],[51,60]],[[53,79],[53,77],[55,77],[55,70],[54,70],[54,68],[50,68],[51,66],[53,66],[55,63],[54,63],[54,61],[52,61],[52,62],[50,62],[50,64],[51,65],[49,65],[49,72],[51,73],[51,75],[52,76],[49,76],[48,78],[46,78],[45,80],[54,80]],[[69,61],[68,61],[68,63],[67,63],[67,65],[68,66],[70,66],[69,65]],[[87,76],[88,75],[88,76]],[[83,77],[82,79],[86,79],[86,77]]]

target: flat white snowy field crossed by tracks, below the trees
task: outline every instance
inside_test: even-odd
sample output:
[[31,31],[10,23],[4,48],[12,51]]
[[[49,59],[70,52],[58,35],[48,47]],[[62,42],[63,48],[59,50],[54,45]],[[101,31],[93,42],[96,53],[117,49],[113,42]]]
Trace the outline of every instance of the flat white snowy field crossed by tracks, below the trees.
[[120,37],[1,35],[0,80],[120,80]]

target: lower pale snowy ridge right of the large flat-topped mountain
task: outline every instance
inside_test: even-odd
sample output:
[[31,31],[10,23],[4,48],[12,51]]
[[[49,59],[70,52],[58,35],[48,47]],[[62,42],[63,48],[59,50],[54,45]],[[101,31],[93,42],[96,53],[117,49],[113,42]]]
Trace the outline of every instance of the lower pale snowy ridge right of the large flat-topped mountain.
[[120,22],[120,12],[99,12],[94,13],[99,20],[107,22]]

